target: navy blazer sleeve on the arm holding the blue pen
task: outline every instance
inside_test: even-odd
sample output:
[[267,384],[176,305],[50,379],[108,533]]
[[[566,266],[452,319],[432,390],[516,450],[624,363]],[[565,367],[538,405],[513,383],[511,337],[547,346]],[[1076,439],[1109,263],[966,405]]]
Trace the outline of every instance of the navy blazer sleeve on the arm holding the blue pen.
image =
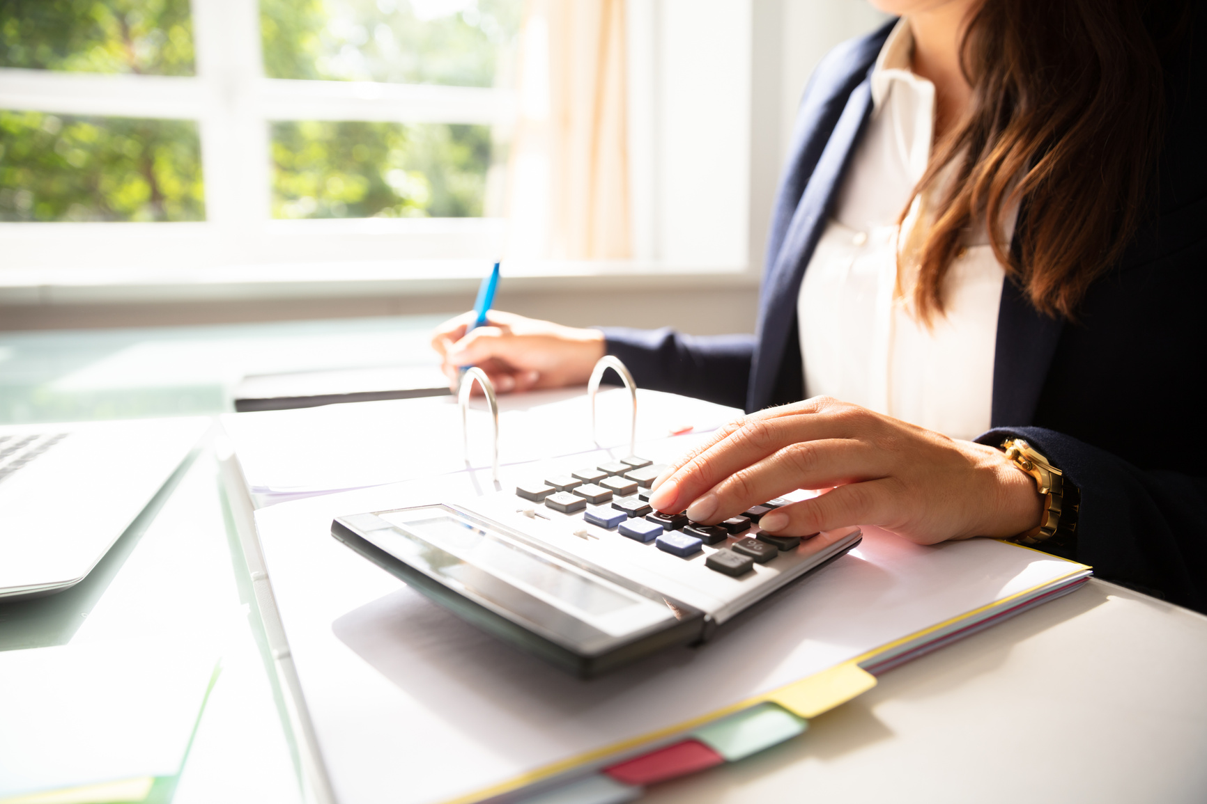
[[640,387],[730,407],[746,405],[753,335],[683,335],[670,328],[600,329],[607,353],[620,358]]

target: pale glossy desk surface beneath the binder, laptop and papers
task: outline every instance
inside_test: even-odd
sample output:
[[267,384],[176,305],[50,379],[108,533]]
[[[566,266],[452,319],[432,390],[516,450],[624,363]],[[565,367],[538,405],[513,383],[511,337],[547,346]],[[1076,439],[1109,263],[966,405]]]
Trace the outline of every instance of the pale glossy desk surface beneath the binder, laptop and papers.
[[[396,350],[400,338],[418,342],[418,333],[430,323],[391,321],[377,324],[386,334],[374,348],[384,353]],[[297,327],[296,341],[284,330],[278,334],[281,354],[302,356],[316,342],[315,333],[321,340],[338,331],[333,322],[320,322],[314,330]],[[217,328],[188,328],[202,329],[212,335]],[[400,329],[409,334],[398,336]],[[135,400],[132,405],[142,405],[135,411],[140,415],[229,410],[221,389],[232,372],[218,376],[214,368],[222,354],[232,353],[228,344],[214,346],[211,339],[210,346],[192,347],[217,356],[198,362],[210,365],[209,385],[189,385],[176,375],[171,382],[177,385],[161,385],[168,392],[140,403],[139,388],[156,387],[147,378],[157,375],[156,362],[162,366],[164,354],[174,350],[135,346],[169,344],[171,333],[142,338],[146,331],[122,331],[124,341],[110,333],[106,342],[124,345],[107,352],[93,348],[78,333],[0,336],[0,360],[7,356],[8,368],[21,369],[0,371],[0,419],[99,418],[122,410],[133,415],[110,404],[123,398],[123,387]],[[360,331],[355,338],[373,340]],[[45,347],[41,362],[33,348],[39,344]],[[47,345],[56,344],[60,357],[66,354],[58,368],[47,358]],[[87,357],[89,348],[93,358]],[[278,363],[280,368],[261,364],[260,370],[338,368],[291,359]],[[117,372],[107,389],[99,387],[99,377],[111,374],[115,364],[127,366],[126,374]],[[53,385],[72,375],[71,382]],[[210,389],[204,398],[210,401],[189,407],[188,389],[198,387]],[[39,407],[47,393],[51,403]],[[177,407],[165,409],[171,404]],[[75,413],[62,416],[64,411]],[[193,462],[150,522],[123,536],[98,573],[88,595],[45,598],[41,609],[27,608],[21,616],[0,608],[0,651],[154,639],[182,629],[216,635],[226,646],[225,670],[175,802],[302,800],[295,746],[280,716],[280,688],[253,622],[246,567],[210,452]],[[65,628],[64,617],[76,614],[87,616]],[[645,800],[1207,800],[1205,663],[1207,617],[1091,581],[1067,598],[886,674],[875,689],[814,720],[809,732],[791,743],[658,786]]]

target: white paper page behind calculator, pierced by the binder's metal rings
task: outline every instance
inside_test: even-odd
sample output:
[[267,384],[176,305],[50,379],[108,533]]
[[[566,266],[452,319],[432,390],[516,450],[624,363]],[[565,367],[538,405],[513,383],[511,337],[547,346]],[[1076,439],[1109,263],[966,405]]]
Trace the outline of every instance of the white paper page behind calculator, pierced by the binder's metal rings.
[[[583,388],[501,395],[498,456],[503,464],[626,446],[631,405],[623,388],[600,391],[599,438],[591,438]],[[716,429],[740,416],[699,399],[637,392],[637,439],[671,430]],[[453,397],[397,399],[301,410],[228,413],[222,424],[252,493],[297,498],[397,482],[466,468],[461,409]],[[491,424],[483,399],[468,416],[470,463],[489,466]],[[273,500],[269,500],[273,501]]]

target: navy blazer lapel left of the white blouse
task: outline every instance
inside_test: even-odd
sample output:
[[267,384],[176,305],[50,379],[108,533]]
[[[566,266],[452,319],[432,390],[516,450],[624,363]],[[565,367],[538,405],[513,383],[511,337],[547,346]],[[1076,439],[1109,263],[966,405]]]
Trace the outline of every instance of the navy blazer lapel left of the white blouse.
[[[849,96],[800,195],[779,253],[771,260],[770,270],[764,278],[754,359],[746,398],[748,411],[788,401],[775,399],[776,378],[787,368],[781,365],[786,352],[795,354],[795,350],[787,347],[788,340],[798,336],[795,310],[800,280],[805,275],[805,266],[812,257],[814,248],[817,247],[834,195],[870,112],[871,81],[865,76]],[[795,372],[799,374],[799,366]]]

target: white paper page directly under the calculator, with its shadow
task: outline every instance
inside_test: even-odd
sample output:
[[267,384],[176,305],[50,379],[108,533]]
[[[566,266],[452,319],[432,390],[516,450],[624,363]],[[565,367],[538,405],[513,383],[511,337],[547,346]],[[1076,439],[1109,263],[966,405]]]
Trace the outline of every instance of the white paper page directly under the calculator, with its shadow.
[[470,473],[278,505],[256,520],[343,804],[443,802],[702,716],[1079,565],[998,541],[863,544],[740,617],[581,681],[466,624],[330,535],[333,516],[465,493]]

